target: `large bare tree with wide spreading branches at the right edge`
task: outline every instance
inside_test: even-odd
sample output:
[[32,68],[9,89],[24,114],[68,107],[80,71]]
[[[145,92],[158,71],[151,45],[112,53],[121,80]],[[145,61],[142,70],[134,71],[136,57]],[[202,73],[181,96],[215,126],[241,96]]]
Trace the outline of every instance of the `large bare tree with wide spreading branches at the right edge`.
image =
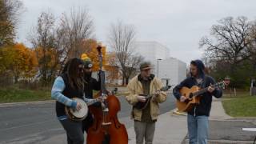
[[[211,75],[231,78],[231,85],[245,88],[255,78],[254,24],[246,17],[222,18],[211,27],[213,39],[202,38],[200,46],[210,59]],[[256,34],[255,34],[256,35]]]

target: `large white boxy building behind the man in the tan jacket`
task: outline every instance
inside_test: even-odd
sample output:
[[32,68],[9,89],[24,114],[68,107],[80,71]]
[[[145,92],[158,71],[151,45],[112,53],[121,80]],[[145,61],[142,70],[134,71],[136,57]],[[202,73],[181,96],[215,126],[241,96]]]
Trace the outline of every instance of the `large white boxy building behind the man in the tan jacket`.
[[154,73],[164,85],[177,85],[186,78],[186,63],[170,58],[170,50],[158,42],[134,42],[134,50],[154,65]]

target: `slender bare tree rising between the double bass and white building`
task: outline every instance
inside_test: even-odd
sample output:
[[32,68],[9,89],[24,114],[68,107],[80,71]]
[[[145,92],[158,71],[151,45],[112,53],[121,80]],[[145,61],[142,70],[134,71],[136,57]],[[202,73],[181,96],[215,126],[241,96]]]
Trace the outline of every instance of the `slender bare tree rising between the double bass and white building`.
[[[134,26],[125,25],[120,21],[110,26],[109,44],[114,49],[118,66],[120,66],[122,71],[122,85],[127,84],[130,75],[133,74],[135,69],[134,61],[141,60],[141,58],[133,56],[134,50],[132,49],[132,43],[134,42],[134,38]],[[132,60],[134,61],[132,62]]]

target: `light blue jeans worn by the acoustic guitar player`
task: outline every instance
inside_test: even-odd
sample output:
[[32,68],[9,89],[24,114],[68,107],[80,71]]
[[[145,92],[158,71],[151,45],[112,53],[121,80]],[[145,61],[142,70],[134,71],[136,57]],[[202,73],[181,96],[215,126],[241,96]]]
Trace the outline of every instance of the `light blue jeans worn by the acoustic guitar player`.
[[190,144],[207,144],[209,120],[207,116],[187,114],[187,128]]

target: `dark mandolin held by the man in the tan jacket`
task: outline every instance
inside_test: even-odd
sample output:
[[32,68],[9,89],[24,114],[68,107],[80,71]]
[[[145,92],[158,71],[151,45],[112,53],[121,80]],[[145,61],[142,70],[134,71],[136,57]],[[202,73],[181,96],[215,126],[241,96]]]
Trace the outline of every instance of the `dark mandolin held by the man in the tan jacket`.
[[[158,91],[166,91],[166,90],[169,90],[171,86],[163,86],[160,90],[156,90],[155,93],[157,93]],[[150,94],[150,95],[145,95],[145,94],[139,94],[141,96],[145,96],[146,97],[146,102],[137,102],[134,107],[138,110],[143,110],[146,108],[146,106],[148,105],[148,103],[150,103],[150,99],[152,97],[155,96],[155,93],[154,94]]]

